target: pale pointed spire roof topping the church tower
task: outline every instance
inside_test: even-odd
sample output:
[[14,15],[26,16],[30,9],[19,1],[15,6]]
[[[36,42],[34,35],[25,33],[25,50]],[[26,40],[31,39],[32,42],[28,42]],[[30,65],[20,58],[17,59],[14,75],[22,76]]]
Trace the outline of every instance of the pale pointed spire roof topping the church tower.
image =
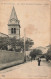
[[19,20],[17,18],[16,11],[15,11],[14,7],[12,9],[8,25],[10,25],[10,24],[19,24]]

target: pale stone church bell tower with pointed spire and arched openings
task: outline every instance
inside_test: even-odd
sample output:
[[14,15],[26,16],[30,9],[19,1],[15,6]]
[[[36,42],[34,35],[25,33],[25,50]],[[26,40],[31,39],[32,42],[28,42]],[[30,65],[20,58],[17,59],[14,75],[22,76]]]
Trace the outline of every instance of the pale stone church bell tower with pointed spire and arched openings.
[[8,35],[9,37],[16,37],[16,39],[20,38],[20,23],[17,18],[15,8],[13,7],[11,16],[8,22]]

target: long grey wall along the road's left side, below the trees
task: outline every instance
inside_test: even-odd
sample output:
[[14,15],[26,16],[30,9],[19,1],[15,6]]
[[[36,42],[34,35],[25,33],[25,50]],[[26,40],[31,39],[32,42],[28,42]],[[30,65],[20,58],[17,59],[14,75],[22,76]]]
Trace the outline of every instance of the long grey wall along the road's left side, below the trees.
[[24,60],[24,54],[15,51],[0,50],[0,64]]

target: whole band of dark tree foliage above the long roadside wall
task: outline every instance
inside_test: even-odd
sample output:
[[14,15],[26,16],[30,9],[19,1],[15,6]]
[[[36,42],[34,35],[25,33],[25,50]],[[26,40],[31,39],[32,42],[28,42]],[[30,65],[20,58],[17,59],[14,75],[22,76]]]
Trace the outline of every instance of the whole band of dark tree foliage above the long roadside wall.
[[[33,40],[30,38],[27,38],[25,41],[25,50],[28,50],[32,45],[34,44]],[[24,39],[16,39],[15,37],[10,38],[10,37],[0,37],[0,49],[7,49],[8,45],[11,45],[10,50],[24,50]],[[17,47],[17,48],[16,48]]]

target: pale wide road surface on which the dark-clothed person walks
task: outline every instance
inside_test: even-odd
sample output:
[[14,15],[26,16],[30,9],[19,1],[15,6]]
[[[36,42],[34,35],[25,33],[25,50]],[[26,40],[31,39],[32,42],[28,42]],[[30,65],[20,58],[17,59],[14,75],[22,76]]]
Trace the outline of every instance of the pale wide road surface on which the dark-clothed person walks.
[[45,60],[41,61],[41,66],[38,66],[37,60],[17,65],[0,71],[0,78],[43,78],[51,79],[51,64]]

